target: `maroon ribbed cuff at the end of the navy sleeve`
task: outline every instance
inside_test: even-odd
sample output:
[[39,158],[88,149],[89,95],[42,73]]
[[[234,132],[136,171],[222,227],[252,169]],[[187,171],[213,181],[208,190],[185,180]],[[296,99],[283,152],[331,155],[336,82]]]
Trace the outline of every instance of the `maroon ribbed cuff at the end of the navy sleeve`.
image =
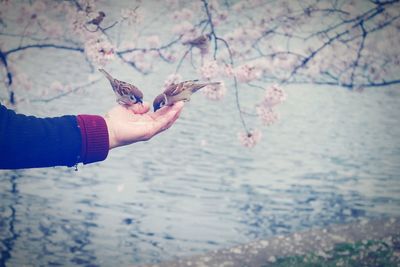
[[108,155],[109,139],[107,124],[97,115],[78,115],[82,136],[81,161],[84,164],[104,160]]

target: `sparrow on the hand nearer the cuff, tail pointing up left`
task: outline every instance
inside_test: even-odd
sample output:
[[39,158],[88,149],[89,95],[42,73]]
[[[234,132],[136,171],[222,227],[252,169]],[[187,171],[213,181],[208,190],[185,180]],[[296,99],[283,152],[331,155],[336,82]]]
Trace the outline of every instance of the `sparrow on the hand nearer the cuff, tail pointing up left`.
[[132,106],[136,103],[143,103],[143,93],[136,86],[113,78],[104,69],[99,69],[99,71],[110,81],[114,93],[117,96],[118,104],[122,106]]

